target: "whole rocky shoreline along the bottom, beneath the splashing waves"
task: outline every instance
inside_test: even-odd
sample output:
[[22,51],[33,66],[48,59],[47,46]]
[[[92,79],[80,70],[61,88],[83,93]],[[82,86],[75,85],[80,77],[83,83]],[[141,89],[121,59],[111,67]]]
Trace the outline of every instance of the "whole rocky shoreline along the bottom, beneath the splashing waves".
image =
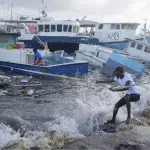
[[[147,112],[147,109],[146,109]],[[144,114],[146,114],[144,112]],[[150,112],[149,112],[150,113]],[[148,115],[149,115],[148,113]],[[145,118],[149,120],[149,118]],[[26,135],[25,135],[26,137]],[[9,142],[2,150],[150,150],[150,126],[141,120],[132,119],[117,127],[116,133],[97,132],[93,136],[63,134],[51,131],[35,140],[33,147],[27,147],[23,140]]]

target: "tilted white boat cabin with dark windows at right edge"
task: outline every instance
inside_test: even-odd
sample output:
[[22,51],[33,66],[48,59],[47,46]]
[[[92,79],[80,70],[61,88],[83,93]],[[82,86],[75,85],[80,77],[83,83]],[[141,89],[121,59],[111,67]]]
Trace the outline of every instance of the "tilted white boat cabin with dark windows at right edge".
[[143,61],[150,62],[150,45],[140,40],[127,39],[128,44],[124,49],[129,55],[139,57]]

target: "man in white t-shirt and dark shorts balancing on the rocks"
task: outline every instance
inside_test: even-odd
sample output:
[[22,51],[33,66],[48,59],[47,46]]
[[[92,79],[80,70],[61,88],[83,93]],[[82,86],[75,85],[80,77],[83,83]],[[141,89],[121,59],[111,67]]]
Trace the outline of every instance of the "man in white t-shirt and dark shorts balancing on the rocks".
[[[121,98],[116,104],[113,112],[113,117],[111,120],[107,121],[109,123],[115,123],[116,115],[120,107],[126,105],[127,106],[127,120],[126,123],[129,124],[131,120],[131,103],[130,102],[137,102],[140,99],[140,93],[138,89],[135,87],[135,82],[133,81],[132,77],[129,74],[124,73],[123,67],[117,67],[114,71],[115,78],[110,81],[96,81],[96,83],[112,83],[117,82],[122,87],[121,89],[113,90],[110,88],[111,91],[127,91],[126,95]],[[127,87],[125,87],[127,86]]]

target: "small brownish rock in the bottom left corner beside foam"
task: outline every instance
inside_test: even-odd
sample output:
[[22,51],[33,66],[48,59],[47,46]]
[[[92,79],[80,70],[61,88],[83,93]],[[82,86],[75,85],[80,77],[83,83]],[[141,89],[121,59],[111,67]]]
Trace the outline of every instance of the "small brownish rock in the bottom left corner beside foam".
[[9,142],[2,150],[29,150],[23,141]]

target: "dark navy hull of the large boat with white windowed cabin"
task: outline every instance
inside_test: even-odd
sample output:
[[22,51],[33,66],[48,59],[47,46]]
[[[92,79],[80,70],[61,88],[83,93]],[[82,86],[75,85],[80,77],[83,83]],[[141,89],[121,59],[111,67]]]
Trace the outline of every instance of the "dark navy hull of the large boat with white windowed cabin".
[[[37,38],[38,37],[38,38]],[[64,50],[67,53],[75,52],[79,49],[79,44],[92,44],[98,45],[99,40],[97,38],[88,37],[67,37],[67,36],[35,36],[32,40],[19,40],[24,42],[25,48],[38,48],[44,49],[44,46],[40,44],[40,41],[47,43],[50,51]],[[40,41],[38,40],[40,39]]]

